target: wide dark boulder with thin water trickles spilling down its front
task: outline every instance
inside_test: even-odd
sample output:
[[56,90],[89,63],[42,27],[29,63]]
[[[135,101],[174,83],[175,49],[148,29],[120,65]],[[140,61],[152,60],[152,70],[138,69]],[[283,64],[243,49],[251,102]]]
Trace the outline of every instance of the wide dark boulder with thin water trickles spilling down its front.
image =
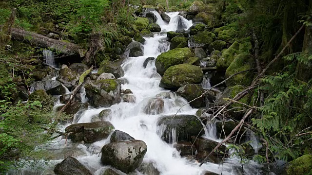
[[[177,139],[175,141],[191,141],[191,136],[197,136],[198,133],[204,134],[204,131],[201,131],[203,125],[193,115],[164,116],[159,119],[157,125],[165,127],[161,137],[168,143],[172,143],[173,138]],[[176,136],[172,136],[172,129],[175,129]]]

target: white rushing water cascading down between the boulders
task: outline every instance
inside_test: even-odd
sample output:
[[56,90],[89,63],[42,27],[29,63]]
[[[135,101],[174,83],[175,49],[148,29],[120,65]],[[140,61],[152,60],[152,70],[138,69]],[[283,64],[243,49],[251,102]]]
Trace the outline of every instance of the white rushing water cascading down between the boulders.
[[[169,24],[162,21],[157,12],[153,12],[157,17],[157,23],[160,25],[162,31],[174,31],[178,29],[179,23],[183,23],[182,26],[185,29],[192,26],[192,21],[188,21],[184,18],[180,18],[177,12],[168,13],[171,17]],[[240,164],[238,160],[226,159],[223,165],[205,163],[199,167],[199,162],[190,161],[187,158],[180,157],[179,152],[173,147],[173,144],[168,144],[160,138],[160,133],[164,129],[164,126],[157,126],[158,119],[163,115],[175,114],[179,108],[187,103],[184,98],[176,95],[174,92],[170,92],[163,88],[159,88],[159,82],[161,76],[156,72],[155,60],[152,60],[147,64],[144,69],[143,62],[147,57],[157,57],[160,53],[166,52],[169,49],[168,42],[165,41],[166,34],[156,33],[154,37],[145,38],[146,42],[144,47],[144,56],[139,57],[128,57],[125,62],[121,65],[125,72],[124,78],[129,83],[122,85],[122,89],[131,89],[133,95],[136,98],[135,103],[119,103],[109,107],[112,110],[113,117],[110,122],[115,126],[116,129],[128,133],[137,140],[143,140],[147,144],[147,153],[144,157],[144,162],[153,161],[156,168],[159,170],[161,175],[201,175],[205,171],[211,171],[223,175],[238,175],[240,174]],[[209,78],[203,82],[204,88],[210,88]],[[148,100],[154,97],[162,97],[164,99],[164,110],[158,115],[148,115],[144,113],[144,109],[148,106]],[[86,102],[84,88],[81,89],[81,99]],[[60,105],[57,101],[56,105]],[[91,118],[99,114],[103,109],[106,108],[92,108],[89,107],[85,111],[79,111],[75,117],[73,123],[88,123],[91,122]],[[197,109],[193,109],[190,105],[185,105],[179,111],[182,114],[195,115]],[[66,126],[61,126],[64,129]],[[205,130],[206,134],[203,137],[216,140],[215,136],[215,124],[211,124]],[[175,142],[176,132],[172,130],[173,139]],[[99,175],[100,170],[105,166],[100,163],[100,149],[103,145],[109,142],[109,138],[93,143],[90,146],[78,144],[79,150],[81,151],[80,156],[76,156],[77,159],[88,167],[95,175]],[[47,149],[53,148],[64,149],[66,147],[74,147],[74,143],[70,140],[58,138],[52,145]],[[60,162],[61,159],[51,161],[52,165]],[[50,171],[51,167],[46,168],[46,171]],[[260,166],[254,163],[244,167],[245,173],[248,175],[258,175],[256,168]],[[240,169],[239,169],[240,170]],[[34,173],[34,174],[37,174]],[[24,175],[24,173],[20,174]],[[25,174],[26,175],[26,174]],[[30,175],[30,174],[29,174]]]

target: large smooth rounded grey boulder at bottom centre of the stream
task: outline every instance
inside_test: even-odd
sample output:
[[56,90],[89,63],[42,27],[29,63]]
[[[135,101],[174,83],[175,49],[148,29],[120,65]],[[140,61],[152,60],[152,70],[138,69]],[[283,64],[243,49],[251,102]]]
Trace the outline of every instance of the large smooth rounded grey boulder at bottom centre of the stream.
[[117,168],[124,173],[130,173],[140,166],[146,151],[147,145],[142,140],[108,143],[101,150],[101,163]]

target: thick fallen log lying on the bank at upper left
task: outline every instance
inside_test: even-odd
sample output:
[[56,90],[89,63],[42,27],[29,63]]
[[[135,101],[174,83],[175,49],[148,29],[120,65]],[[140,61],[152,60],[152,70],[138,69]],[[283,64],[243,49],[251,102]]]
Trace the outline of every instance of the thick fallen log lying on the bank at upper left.
[[[0,26],[0,28],[2,27],[3,25]],[[80,57],[83,57],[85,53],[77,44],[52,39],[23,29],[12,28],[11,36],[12,40],[30,43],[32,46],[38,46],[65,55],[78,54]]]

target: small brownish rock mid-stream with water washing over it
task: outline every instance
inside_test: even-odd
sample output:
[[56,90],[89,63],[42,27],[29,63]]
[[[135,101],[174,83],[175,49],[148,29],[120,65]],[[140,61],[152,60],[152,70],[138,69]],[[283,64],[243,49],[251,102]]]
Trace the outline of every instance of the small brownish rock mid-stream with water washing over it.
[[164,101],[161,98],[152,98],[147,102],[144,113],[148,115],[157,115],[164,110]]

